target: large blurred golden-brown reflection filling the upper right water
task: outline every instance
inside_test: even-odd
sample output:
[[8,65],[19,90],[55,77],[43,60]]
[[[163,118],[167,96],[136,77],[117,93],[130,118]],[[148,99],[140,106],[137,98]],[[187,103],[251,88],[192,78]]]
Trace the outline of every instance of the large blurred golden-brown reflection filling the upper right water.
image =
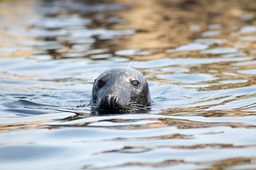
[[[126,37],[123,40],[113,41],[116,48],[157,48],[159,51],[149,56],[132,56],[136,60],[156,59],[163,57],[211,57],[209,54],[200,54],[199,51],[182,51],[166,54],[165,49],[176,48],[180,45],[188,44],[198,38],[202,38],[201,33],[208,30],[211,24],[220,24],[220,35],[214,36],[217,39],[227,39],[225,47],[232,47],[233,44],[248,45],[249,49],[255,49],[253,42],[237,41],[237,37],[232,34],[234,26],[255,25],[255,20],[241,22],[239,15],[247,14],[252,10],[255,3],[250,0],[240,1],[176,1],[176,0],[115,0],[117,3],[130,4],[131,9],[118,11],[127,22],[116,24],[114,29],[135,29],[140,32]],[[211,5],[209,5],[211,4]],[[199,25],[200,28],[190,30],[189,26]],[[210,30],[211,31],[211,30]],[[251,33],[252,34],[252,33]],[[248,35],[251,35],[248,33]],[[244,34],[243,34],[244,35]],[[203,37],[203,38],[212,38]],[[218,47],[213,44],[211,47]],[[249,50],[246,49],[246,50]],[[253,54],[247,54],[253,56]]]

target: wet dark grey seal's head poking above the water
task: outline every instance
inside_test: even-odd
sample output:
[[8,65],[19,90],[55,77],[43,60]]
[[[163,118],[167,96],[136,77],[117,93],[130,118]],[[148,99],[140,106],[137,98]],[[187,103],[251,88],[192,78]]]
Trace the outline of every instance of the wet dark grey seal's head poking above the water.
[[91,107],[96,111],[131,113],[151,108],[148,83],[133,68],[112,67],[94,80]]

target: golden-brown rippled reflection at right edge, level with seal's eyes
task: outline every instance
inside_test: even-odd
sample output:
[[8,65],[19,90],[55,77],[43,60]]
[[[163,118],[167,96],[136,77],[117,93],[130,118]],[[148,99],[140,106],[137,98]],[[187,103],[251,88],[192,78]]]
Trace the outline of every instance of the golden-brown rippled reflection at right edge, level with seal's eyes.
[[[161,79],[161,78],[156,78],[156,77],[149,77],[148,80],[151,81],[158,81],[158,82],[163,82],[163,83],[171,83],[174,85],[183,85],[186,87],[186,85],[207,85],[206,87],[193,87],[197,89],[198,91],[215,91],[215,90],[224,90],[224,89],[234,89],[234,88],[240,88],[240,87],[248,87],[252,85],[256,85],[256,79],[255,75],[253,74],[242,74],[242,73],[237,73],[239,70],[246,70],[246,69],[255,69],[256,65],[250,65],[250,62],[248,65],[243,65],[240,66],[239,69],[236,70],[230,70],[229,68],[231,67],[230,63],[213,63],[213,64],[200,64],[200,66],[194,66],[191,67],[188,74],[196,74],[196,73],[204,73],[208,75],[212,75],[213,77],[216,77],[218,79],[215,80],[210,80],[210,81],[203,81],[200,83],[182,83],[182,82],[176,82],[173,80],[167,80],[167,79]],[[239,63],[237,63],[239,64]],[[218,70],[217,73],[212,73],[211,70]],[[154,72],[143,72],[146,75],[152,75],[156,74]],[[163,73],[157,73],[157,75],[171,75],[171,74],[177,74],[177,73],[168,73],[168,72],[163,72]],[[243,83],[224,83],[221,84],[221,81],[229,81],[229,80],[248,80]],[[219,83],[216,85],[216,83]],[[192,87],[186,87],[186,88],[192,88]]]

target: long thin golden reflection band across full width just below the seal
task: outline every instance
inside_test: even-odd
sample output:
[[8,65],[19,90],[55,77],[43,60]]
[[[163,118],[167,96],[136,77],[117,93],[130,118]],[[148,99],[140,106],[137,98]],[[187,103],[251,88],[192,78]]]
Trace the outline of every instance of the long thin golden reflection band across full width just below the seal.
[[[206,117],[216,117],[220,116],[218,113],[209,114],[200,114],[201,116]],[[221,114],[221,113],[220,113]],[[100,121],[91,121],[91,122],[79,122],[79,123],[70,123],[66,125],[58,125],[58,122],[65,121],[74,121],[78,119],[86,119],[86,117],[81,116],[81,114],[69,116],[64,119],[52,119],[52,120],[39,120],[39,121],[30,121],[30,122],[16,122],[16,123],[7,123],[0,124],[0,132],[5,132],[6,130],[22,130],[22,129],[30,129],[30,128],[48,128],[48,129],[58,129],[61,127],[93,127],[93,128],[106,128],[106,129],[152,129],[152,128],[162,128],[162,127],[176,127],[177,129],[196,129],[196,128],[208,128],[208,127],[231,127],[231,128],[249,128],[255,129],[256,125],[241,123],[241,122],[199,122],[199,121],[191,121],[186,119],[172,119],[172,118],[145,118],[145,119],[134,119],[134,120],[125,120],[125,119],[108,119],[108,120],[100,120]],[[118,122],[137,122],[143,120],[150,121],[158,121],[157,123],[148,123],[148,124],[138,124],[138,125],[118,125]],[[91,123],[97,122],[116,122],[115,126],[90,126]],[[47,125],[49,122],[57,122],[56,125]],[[159,139],[192,139],[193,136],[183,135],[183,134],[170,134],[165,136],[154,136],[154,137],[138,137],[138,138],[118,138],[115,140],[141,140],[141,139],[149,139],[149,140],[159,140]]]

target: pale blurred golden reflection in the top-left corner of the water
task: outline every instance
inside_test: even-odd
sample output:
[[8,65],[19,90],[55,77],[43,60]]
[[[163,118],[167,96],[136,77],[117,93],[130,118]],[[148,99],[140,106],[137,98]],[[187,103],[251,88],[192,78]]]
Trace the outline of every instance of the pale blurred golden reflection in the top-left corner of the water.
[[[33,2],[33,1],[32,1]],[[2,0],[0,5],[0,14],[3,16],[1,20],[1,27],[0,27],[0,47],[4,50],[1,51],[0,57],[13,57],[13,56],[20,56],[20,57],[27,57],[30,56],[33,52],[32,48],[24,48],[20,49],[19,47],[24,47],[23,42],[31,40],[30,37],[20,33],[19,35],[10,35],[6,33],[10,31],[5,27],[9,27],[10,24],[13,27],[9,28],[16,28],[16,32],[20,31],[18,29],[19,24],[24,22],[25,26],[28,26],[30,17],[35,15],[34,14],[34,7],[30,4],[31,1],[8,1]],[[17,10],[19,7],[19,10]],[[22,9],[22,10],[21,10]]]

